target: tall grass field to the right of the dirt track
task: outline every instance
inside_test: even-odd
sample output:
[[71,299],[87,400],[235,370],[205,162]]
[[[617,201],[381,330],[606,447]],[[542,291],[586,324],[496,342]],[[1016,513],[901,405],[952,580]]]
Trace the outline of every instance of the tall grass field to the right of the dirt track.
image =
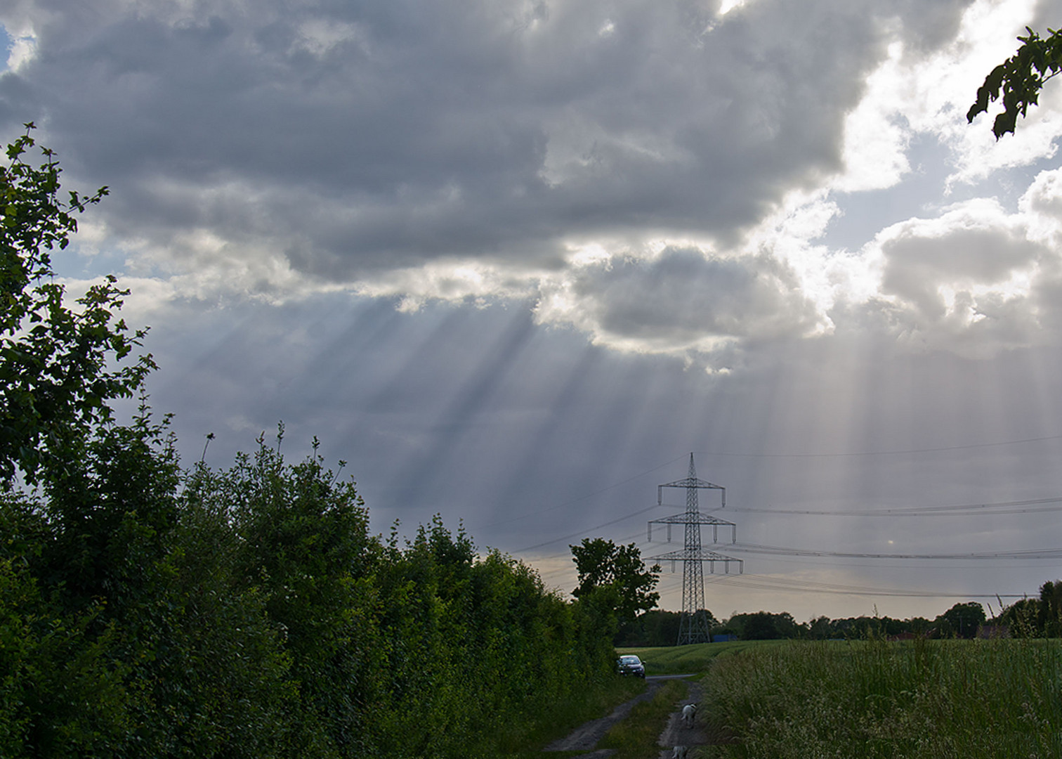
[[793,642],[718,658],[717,759],[1062,757],[1062,643]]

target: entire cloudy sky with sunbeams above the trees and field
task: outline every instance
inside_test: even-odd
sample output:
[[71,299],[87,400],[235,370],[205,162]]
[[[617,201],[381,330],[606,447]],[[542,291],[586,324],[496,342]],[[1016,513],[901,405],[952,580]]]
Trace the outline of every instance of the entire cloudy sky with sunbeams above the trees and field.
[[568,592],[583,538],[681,547],[692,453],[716,617],[991,612],[1062,577],[1062,85],[965,113],[1060,15],[7,0],[0,138],[109,187],[55,264],[131,289],[186,465],[282,422],[374,532]]

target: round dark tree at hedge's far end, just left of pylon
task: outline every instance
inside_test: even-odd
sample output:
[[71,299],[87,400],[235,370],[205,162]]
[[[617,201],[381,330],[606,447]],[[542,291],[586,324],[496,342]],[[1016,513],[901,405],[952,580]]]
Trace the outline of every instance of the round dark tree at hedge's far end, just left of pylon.
[[568,547],[579,572],[579,587],[571,591],[577,598],[607,597],[620,620],[633,620],[639,611],[656,606],[661,594],[653,588],[660,580],[660,564],[646,570],[634,543],[616,545],[604,538],[583,538],[581,544]]

